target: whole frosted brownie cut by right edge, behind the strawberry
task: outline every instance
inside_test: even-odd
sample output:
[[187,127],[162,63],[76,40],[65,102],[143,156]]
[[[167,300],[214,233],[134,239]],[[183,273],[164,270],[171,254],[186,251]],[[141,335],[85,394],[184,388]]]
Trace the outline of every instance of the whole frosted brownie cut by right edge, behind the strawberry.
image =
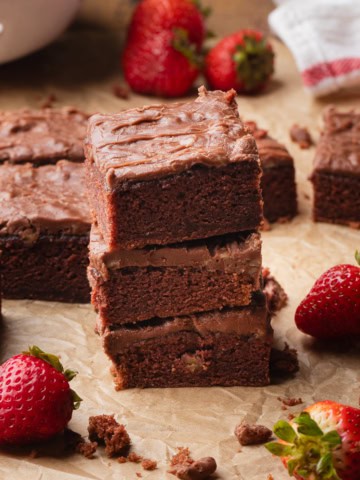
[[360,228],[360,112],[325,111],[311,182],[316,222]]

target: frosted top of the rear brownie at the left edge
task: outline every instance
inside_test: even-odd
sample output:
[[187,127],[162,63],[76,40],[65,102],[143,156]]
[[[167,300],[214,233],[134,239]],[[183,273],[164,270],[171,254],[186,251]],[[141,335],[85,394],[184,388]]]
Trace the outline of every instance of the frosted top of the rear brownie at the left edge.
[[83,161],[87,120],[73,107],[0,112],[0,162]]

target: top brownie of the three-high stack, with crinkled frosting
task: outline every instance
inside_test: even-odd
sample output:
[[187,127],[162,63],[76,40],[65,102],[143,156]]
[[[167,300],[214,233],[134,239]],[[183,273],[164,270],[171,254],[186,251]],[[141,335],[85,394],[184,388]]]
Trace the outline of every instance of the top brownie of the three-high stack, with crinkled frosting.
[[89,199],[105,242],[123,249],[255,230],[262,222],[256,143],[235,92],[90,118]]

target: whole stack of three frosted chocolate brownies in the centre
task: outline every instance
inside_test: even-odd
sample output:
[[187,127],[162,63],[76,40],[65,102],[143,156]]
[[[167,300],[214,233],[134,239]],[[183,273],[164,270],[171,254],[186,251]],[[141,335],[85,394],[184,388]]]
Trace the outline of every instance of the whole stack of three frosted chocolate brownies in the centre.
[[269,382],[261,168],[234,97],[90,119],[89,280],[119,388]]

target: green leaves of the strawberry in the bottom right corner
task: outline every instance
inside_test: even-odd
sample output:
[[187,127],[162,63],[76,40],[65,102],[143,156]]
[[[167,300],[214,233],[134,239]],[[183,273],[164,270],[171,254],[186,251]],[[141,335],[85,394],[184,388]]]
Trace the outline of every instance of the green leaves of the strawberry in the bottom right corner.
[[324,433],[309,413],[302,412],[292,420],[296,429],[285,420],[274,425],[279,442],[265,448],[284,459],[290,476],[313,480],[340,480],[333,464],[332,452],[342,439],[336,430]]

